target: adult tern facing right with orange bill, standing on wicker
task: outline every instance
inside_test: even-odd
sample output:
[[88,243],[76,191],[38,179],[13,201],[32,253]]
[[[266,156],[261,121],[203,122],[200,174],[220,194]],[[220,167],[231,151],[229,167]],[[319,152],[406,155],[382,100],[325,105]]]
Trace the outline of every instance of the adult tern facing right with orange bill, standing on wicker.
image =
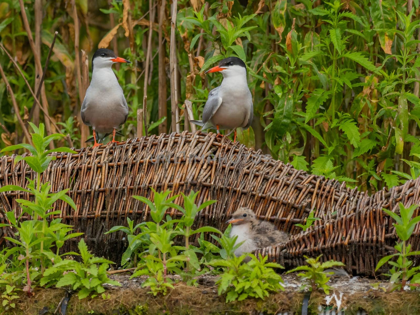
[[102,144],[97,143],[96,133],[112,132],[111,142],[118,142],[115,141],[116,129],[126,122],[129,113],[123,89],[111,68],[116,62],[131,63],[105,48],[98,49],[92,57],[92,80],[86,90],[80,115],[85,125],[92,126],[93,147]]

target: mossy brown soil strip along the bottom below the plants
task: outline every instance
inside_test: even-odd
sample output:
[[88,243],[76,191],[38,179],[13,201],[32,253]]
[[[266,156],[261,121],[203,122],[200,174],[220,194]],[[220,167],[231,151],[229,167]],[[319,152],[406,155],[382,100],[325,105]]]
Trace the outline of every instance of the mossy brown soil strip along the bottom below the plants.
[[[121,287],[108,286],[107,297],[79,300],[74,294],[68,300],[66,315],[85,314],[301,314],[304,293],[299,291],[301,282],[294,274],[283,275],[285,291],[271,294],[265,300],[246,299],[241,302],[225,303],[218,296],[214,285],[215,276],[201,276],[198,286],[175,284],[165,296],[154,297],[148,288],[142,288],[144,278],[129,279],[130,274],[114,274]],[[308,313],[318,314],[325,309],[338,307],[346,314],[365,310],[368,314],[418,314],[420,310],[419,291],[386,292],[388,283],[374,279],[333,276],[329,282],[333,290],[329,295],[312,292]],[[14,310],[5,314],[47,315],[60,314],[58,304],[66,296],[63,289],[36,289],[33,297],[23,296]]]

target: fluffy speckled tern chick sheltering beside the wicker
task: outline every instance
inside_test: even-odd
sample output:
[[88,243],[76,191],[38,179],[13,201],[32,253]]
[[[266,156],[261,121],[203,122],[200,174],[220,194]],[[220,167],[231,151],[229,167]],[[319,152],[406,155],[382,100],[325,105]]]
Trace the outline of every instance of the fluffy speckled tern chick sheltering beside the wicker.
[[237,236],[236,244],[244,243],[235,251],[236,256],[252,252],[257,248],[284,244],[289,240],[287,234],[279,231],[273,223],[262,221],[247,207],[236,210],[230,220],[232,224],[230,236]]

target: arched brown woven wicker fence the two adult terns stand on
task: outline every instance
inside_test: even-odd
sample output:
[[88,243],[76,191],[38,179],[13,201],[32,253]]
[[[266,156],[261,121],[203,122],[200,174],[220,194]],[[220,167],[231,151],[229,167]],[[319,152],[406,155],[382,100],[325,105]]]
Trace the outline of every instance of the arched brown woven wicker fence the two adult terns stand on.
[[[400,201],[406,206],[420,204],[419,179],[369,196],[346,188],[344,183],[296,170],[261,151],[199,131],[152,135],[76,151],[58,154],[42,174],[42,181],[50,181],[53,192],[70,189],[76,211],[61,201],[55,203],[63,223],[83,232],[96,255],[115,262],[121,261],[126,247],[123,234],[104,233],[113,226],[126,225],[127,217],[134,224],[150,220],[148,207],[131,198],[151,198],[150,187],[170,189],[172,195],[200,191],[199,203],[216,199],[217,203],[199,213],[195,227],[210,225],[224,230],[224,222],[238,207],[252,208],[260,219],[273,221],[291,235],[287,244],[257,250],[286,268],[301,265],[303,255],[323,254],[323,260],[342,261],[349,272],[359,275],[373,275],[378,260],[393,250],[395,229],[381,209],[396,211]],[[34,173],[24,161],[15,164],[13,160],[13,156],[0,158],[0,186],[25,187],[26,177],[33,179]],[[17,198],[33,197],[26,192],[0,194],[2,222],[5,211],[20,214]],[[176,202],[182,205],[182,199]],[[322,221],[302,232],[294,224],[303,224],[312,209]],[[180,215],[173,209],[168,214]],[[413,250],[420,249],[419,226],[409,240]],[[13,236],[13,231],[3,228],[3,235]],[[76,241],[64,249],[75,250]]]

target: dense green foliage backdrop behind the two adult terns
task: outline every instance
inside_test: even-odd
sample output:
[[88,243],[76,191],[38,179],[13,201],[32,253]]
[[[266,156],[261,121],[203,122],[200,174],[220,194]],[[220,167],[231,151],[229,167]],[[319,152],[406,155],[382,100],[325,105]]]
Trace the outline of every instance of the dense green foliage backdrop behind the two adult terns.
[[[38,18],[36,5],[42,12]],[[81,50],[89,56],[89,65],[99,44],[134,63],[115,69],[130,108],[122,129],[127,137],[189,129],[184,100],[192,101],[194,119],[201,117],[208,91],[221,81],[220,74],[205,76],[201,70],[237,55],[248,67],[255,110],[252,128],[239,133],[241,143],[262,148],[296,168],[370,191],[418,175],[418,0],[180,0],[176,5],[174,82],[168,1],[24,1],[32,35],[42,42],[42,65],[54,32],[59,32],[45,95],[50,118],[71,137],[66,145],[84,146],[79,110],[88,82],[80,80],[86,67],[80,62]],[[0,36],[34,87],[34,53],[19,1],[0,3]],[[0,80],[5,147],[20,143],[23,131],[16,115],[28,119],[34,99],[3,50],[0,64],[19,106],[15,113]],[[138,133],[146,69],[147,113]],[[179,87],[178,126],[171,124],[171,80]],[[34,113],[32,121],[44,118],[42,112]],[[53,126],[50,129],[55,132]],[[64,144],[60,141],[56,147]]]

